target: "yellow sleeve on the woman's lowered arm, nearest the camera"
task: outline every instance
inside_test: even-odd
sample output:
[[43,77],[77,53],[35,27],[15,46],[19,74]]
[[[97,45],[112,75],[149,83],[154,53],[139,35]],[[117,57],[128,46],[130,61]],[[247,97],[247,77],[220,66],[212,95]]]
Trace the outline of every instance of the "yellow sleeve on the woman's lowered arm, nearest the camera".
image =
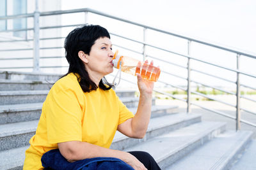
[[45,101],[47,139],[49,143],[82,141],[81,115],[76,92],[72,89],[52,90]]

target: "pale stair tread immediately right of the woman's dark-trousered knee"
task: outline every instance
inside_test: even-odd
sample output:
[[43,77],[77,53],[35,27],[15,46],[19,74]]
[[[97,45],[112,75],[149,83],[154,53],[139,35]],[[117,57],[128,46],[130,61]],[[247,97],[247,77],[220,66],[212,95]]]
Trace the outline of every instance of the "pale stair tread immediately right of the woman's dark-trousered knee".
[[[125,150],[145,151],[150,153],[157,162],[161,162],[162,160],[166,159],[166,157],[179,153],[182,149],[191,145],[191,143],[198,141],[205,135],[216,129],[220,129],[220,127],[223,127],[224,125],[224,122],[199,122],[189,125],[188,127],[183,127],[176,131],[148,139],[148,141]],[[156,149],[156,146],[159,145],[161,145],[161,147],[157,147]]]

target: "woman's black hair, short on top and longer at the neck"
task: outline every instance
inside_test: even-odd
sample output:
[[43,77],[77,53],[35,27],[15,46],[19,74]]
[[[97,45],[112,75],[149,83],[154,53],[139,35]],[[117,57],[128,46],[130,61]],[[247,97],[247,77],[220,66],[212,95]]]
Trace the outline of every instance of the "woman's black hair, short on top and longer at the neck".
[[[68,73],[79,74],[79,85],[84,92],[96,90],[97,85],[90,79],[88,72],[85,69],[83,61],[79,58],[78,52],[83,51],[90,55],[90,51],[95,41],[99,38],[109,38],[109,32],[100,25],[83,25],[71,31],[65,39],[65,57],[68,60]],[[67,76],[65,74],[64,76]],[[75,74],[76,75],[76,74]],[[113,87],[105,77],[100,80],[99,88],[102,90],[109,90]]]

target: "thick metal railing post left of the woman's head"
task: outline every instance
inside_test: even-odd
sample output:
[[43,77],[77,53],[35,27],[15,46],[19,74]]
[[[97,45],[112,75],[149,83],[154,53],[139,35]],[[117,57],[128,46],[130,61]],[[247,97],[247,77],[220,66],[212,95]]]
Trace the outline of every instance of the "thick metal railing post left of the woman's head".
[[39,25],[39,17],[40,12],[38,10],[38,0],[36,0],[36,8],[34,12],[34,60],[33,60],[33,71],[40,71],[39,60],[40,60],[40,25]]

